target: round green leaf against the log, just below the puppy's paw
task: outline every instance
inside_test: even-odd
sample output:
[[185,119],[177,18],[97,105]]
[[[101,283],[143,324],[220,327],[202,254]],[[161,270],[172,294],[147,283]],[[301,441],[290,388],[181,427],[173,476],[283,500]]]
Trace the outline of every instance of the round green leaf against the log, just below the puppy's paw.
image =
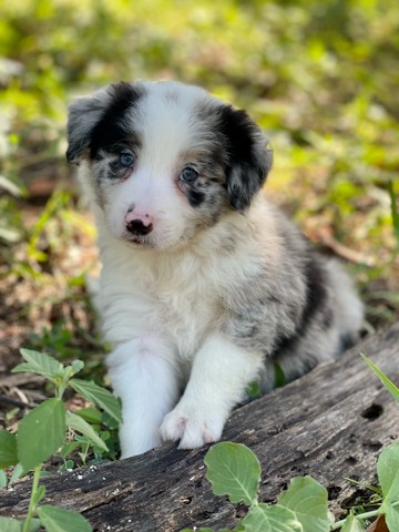
[[223,442],[205,454],[206,477],[216,495],[227,494],[232,502],[252,504],[260,481],[259,460],[241,443]]

